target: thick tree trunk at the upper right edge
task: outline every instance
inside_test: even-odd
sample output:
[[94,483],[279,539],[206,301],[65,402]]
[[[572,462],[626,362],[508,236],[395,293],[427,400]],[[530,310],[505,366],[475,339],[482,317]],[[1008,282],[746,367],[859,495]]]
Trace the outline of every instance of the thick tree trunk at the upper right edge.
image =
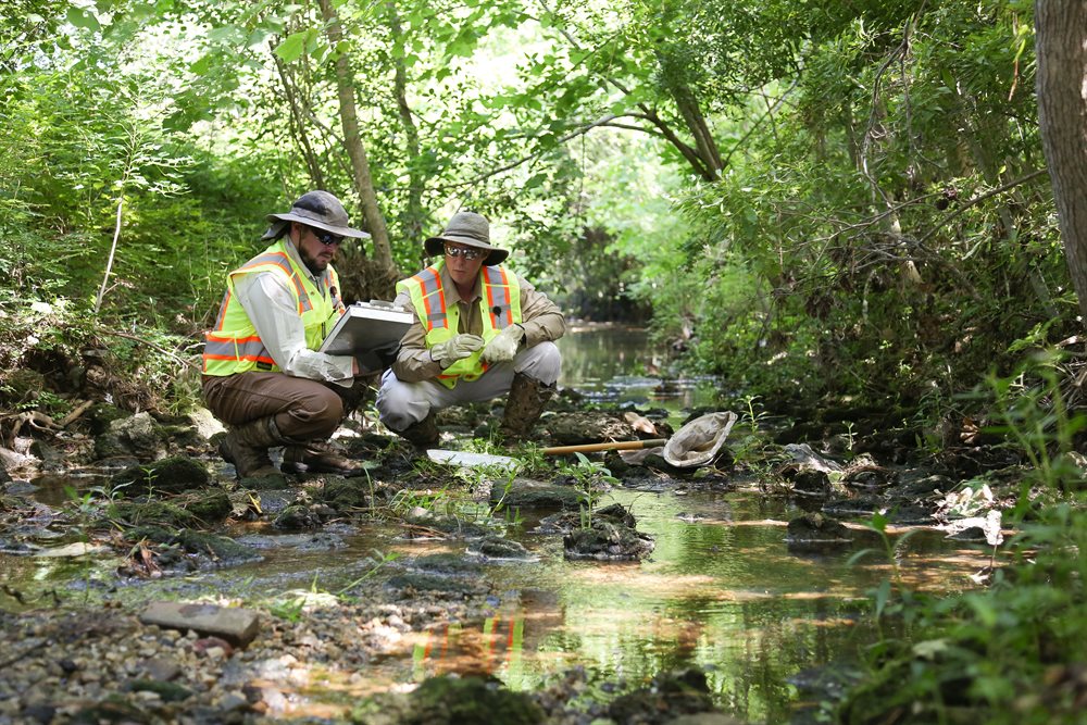
[[1087,0],[1036,0],[1038,123],[1079,313],[1087,320]]

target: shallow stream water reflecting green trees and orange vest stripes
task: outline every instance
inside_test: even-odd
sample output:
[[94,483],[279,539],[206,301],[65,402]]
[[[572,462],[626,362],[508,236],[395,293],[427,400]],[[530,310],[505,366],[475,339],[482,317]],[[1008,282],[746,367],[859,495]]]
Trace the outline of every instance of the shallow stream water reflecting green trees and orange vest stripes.
[[[713,402],[713,380],[662,384],[650,374],[663,366],[664,355],[649,349],[639,330],[575,328],[560,347],[561,386],[595,400],[662,407],[677,421],[685,410]],[[50,492],[36,496],[45,500]],[[614,697],[615,683],[640,687],[661,671],[697,665],[729,714],[758,723],[809,722],[812,703],[791,682],[850,660],[876,638],[866,624],[869,590],[891,575],[915,589],[962,590],[973,586],[970,575],[989,563],[982,548],[930,529],[892,537],[889,552],[857,562],[850,561],[855,549],[790,551],[785,527],[800,511],[766,499],[754,479],[739,480],[724,493],[614,488],[599,505],[613,502],[627,507],[638,530],[654,538],[647,560],[566,561],[561,537],[534,533],[537,520],[524,512],[505,535],[523,543],[533,560],[483,562],[483,576],[500,592],[490,616],[405,638],[367,667],[364,683],[300,685],[284,715],[321,716],[370,691],[448,672],[485,672],[511,689],[535,690],[582,667],[589,683],[585,697],[607,700]],[[374,550],[396,553],[398,562],[465,551],[464,541],[404,539],[391,525],[340,526],[333,533],[345,547],[333,551],[308,552],[279,535],[285,546],[262,550],[259,563],[120,586],[141,599],[311,592],[320,607],[315,592],[336,591],[364,575],[359,562]],[[247,533],[275,534],[253,524],[232,532]],[[39,588],[93,591],[117,586],[111,584],[117,563],[0,553],[0,576]]]

